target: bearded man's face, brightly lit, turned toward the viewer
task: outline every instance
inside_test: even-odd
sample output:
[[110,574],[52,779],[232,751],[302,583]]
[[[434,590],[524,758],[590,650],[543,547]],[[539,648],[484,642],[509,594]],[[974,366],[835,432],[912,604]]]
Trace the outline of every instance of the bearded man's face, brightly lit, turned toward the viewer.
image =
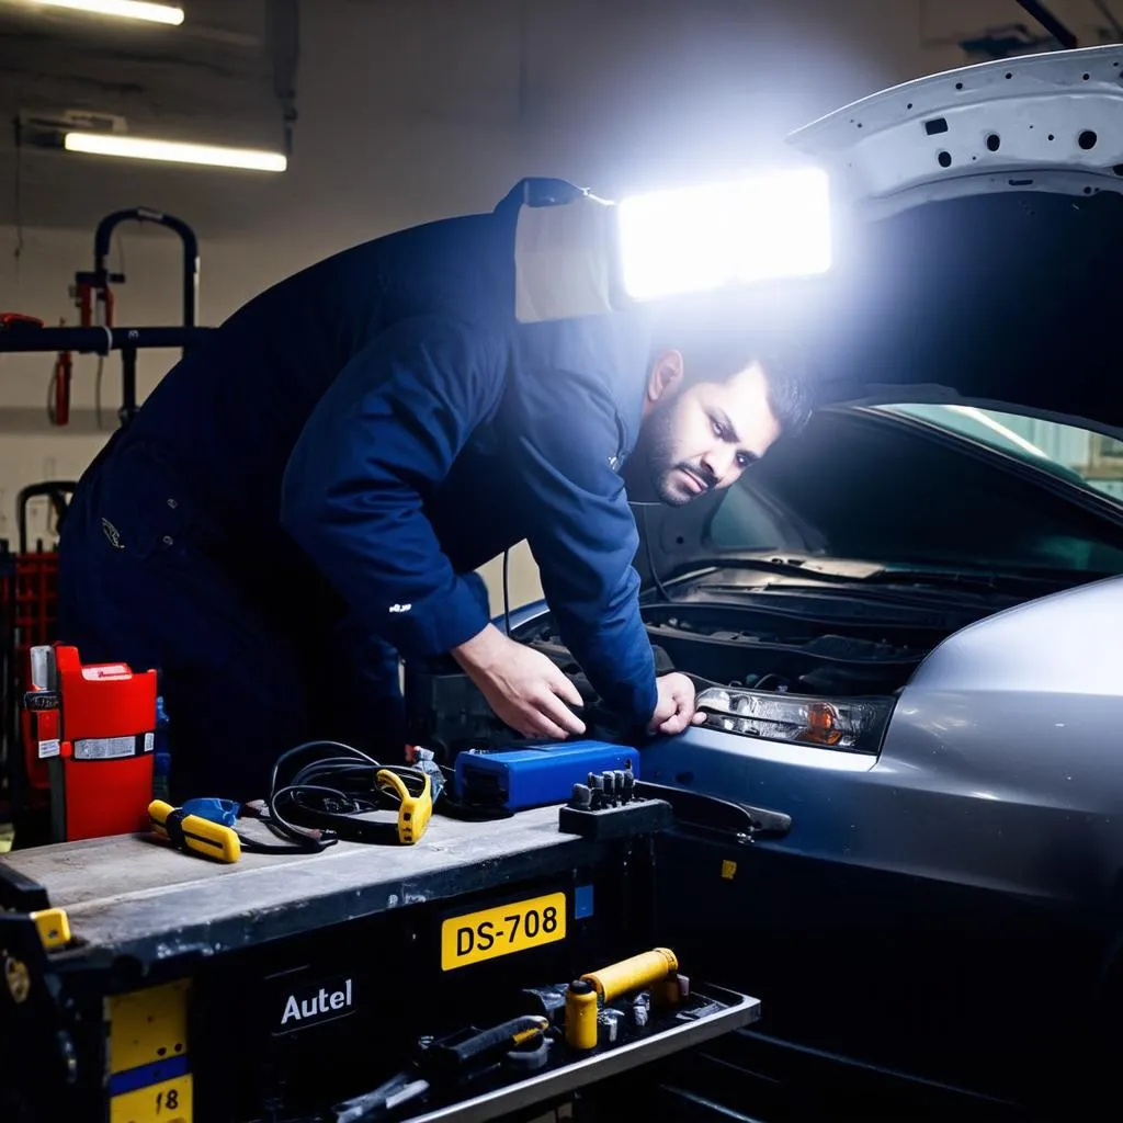
[[677,351],[656,360],[629,464],[629,491],[654,492],[674,506],[737,483],[780,435],[758,363],[724,382],[697,382],[685,390],[682,376]]

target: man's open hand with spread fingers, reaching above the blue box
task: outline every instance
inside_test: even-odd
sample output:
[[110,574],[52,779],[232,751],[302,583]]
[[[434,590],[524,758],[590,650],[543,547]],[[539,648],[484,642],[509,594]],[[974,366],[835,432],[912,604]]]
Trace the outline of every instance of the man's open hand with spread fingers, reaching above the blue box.
[[453,648],[451,655],[495,715],[523,737],[564,740],[585,732],[585,723],[566,705],[582,704],[577,687],[541,651],[517,643],[489,624]]

